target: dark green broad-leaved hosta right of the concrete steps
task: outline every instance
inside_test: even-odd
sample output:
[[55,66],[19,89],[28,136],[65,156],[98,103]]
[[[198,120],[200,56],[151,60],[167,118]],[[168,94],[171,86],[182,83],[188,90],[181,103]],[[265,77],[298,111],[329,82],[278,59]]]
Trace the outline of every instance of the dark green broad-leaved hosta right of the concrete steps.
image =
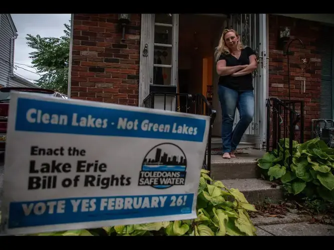
[[323,140],[314,138],[302,144],[293,141],[292,163],[289,164],[289,139],[283,139],[277,150],[266,152],[258,159],[258,166],[269,180],[278,179],[290,194],[301,194],[309,198],[321,197],[334,200],[334,149]]

